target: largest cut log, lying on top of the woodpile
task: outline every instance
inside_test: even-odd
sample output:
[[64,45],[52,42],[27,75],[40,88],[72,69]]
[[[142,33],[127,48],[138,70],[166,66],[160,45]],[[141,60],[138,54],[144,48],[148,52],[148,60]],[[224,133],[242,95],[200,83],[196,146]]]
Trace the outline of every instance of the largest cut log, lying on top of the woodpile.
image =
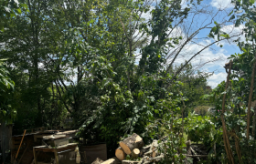
[[139,135],[133,133],[133,135],[130,136],[129,138],[123,139],[123,141],[121,141],[119,145],[126,154],[130,155],[133,149],[143,148],[144,141],[143,138],[141,138]]

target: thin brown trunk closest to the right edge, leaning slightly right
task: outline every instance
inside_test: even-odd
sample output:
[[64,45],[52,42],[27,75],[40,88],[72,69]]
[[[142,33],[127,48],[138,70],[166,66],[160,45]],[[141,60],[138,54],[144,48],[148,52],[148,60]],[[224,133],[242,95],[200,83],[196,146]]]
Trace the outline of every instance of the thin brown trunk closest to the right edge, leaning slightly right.
[[252,73],[251,73],[251,88],[250,88],[250,95],[248,100],[248,110],[247,110],[247,133],[246,138],[250,138],[250,118],[251,118],[251,99],[253,94],[253,85],[254,85],[254,77],[255,77],[255,66],[256,66],[256,60],[254,61],[253,67],[252,67]]

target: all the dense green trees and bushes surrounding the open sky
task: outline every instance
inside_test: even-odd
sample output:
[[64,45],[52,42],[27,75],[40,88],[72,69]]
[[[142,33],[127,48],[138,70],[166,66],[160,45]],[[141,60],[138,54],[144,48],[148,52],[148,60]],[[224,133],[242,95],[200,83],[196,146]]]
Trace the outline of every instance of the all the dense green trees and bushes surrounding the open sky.
[[[107,142],[110,156],[120,138],[136,132],[145,142],[167,135],[163,162],[183,163],[187,134],[208,147],[208,162],[256,163],[254,0],[234,0],[229,21],[244,24],[247,39],[234,41],[243,53],[230,56],[227,82],[212,92],[211,74],[191,61],[234,36],[221,31],[216,17],[179,35],[179,26],[203,13],[201,0],[182,2],[0,0],[1,120],[13,122],[15,133],[79,128],[87,142]],[[176,65],[206,28],[214,41]],[[197,116],[194,108],[209,100],[215,114]]]

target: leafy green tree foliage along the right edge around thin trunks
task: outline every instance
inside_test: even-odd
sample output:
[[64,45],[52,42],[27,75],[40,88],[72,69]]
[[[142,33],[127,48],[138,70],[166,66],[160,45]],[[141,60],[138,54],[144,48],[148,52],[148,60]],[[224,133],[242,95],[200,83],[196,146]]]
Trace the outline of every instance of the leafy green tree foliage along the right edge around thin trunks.
[[[240,46],[241,54],[231,55],[229,57],[232,63],[232,71],[230,75],[229,87],[225,89],[225,82],[219,84],[212,94],[210,95],[211,100],[216,106],[216,118],[213,118],[216,129],[220,131],[219,135],[215,136],[215,141],[219,144],[219,152],[225,153],[224,156],[228,156],[227,146],[221,147],[223,143],[221,138],[224,133],[223,122],[227,127],[228,139],[231,145],[235,147],[229,147],[232,149],[233,162],[231,163],[255,163],[255,121],[254,115],[253,121],[251,120],[251,111],[255,113],[254,109],[251,108],[251,101],[255,100],[255,82],[253,79],[255,75],[253,72],[255,69],[255,6],[254,0],[251,1],[232,1],[235,5],[233,11],[229,14],[230,20],[235,21],[235,26],[244,25],[244,35],[246,41],[240,41],[240,38],[235,40]],[[212,30],[215,31],[216,30]],[[215,35],[219,35],[216,32]],[[232,61],[232,62],[231,62]],[[223,102],[223,96],[226,95],[225,102]],[[222,107],[224,104],[224,107]],[[224,108],[224,112],[219,112]],[[221,120],[220,118],[224,118]],[[222,126],[221,126],[222,124]],[[254,129],[252,128],[254,127]],[[219,139],[220,138],[220,139]],[[225,138],[224,138],[225,139]],[[225,141],[224,141],[225,143]],[[220,159],[219,154],[219,159]],[[223,158],[222,158],[223,159]],[[217,159],[215,159],[217,160]],[[223,162],[228,161],[223,159]]]

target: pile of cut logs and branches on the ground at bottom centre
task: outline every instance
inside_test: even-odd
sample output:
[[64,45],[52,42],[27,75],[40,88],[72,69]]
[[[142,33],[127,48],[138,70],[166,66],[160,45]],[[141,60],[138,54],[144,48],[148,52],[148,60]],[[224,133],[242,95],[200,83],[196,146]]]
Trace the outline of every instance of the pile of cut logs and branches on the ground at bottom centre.
[[[152,144],[144,146],[143,138],[135,133],[119,142],[119,146],[115,150],[116,157],[101,162],[101,164],[148,164],[164,158],[157,151],[158,140],[154,140]],[[127,156],[130,156],[130,160],[126,160],[128,159]]]

